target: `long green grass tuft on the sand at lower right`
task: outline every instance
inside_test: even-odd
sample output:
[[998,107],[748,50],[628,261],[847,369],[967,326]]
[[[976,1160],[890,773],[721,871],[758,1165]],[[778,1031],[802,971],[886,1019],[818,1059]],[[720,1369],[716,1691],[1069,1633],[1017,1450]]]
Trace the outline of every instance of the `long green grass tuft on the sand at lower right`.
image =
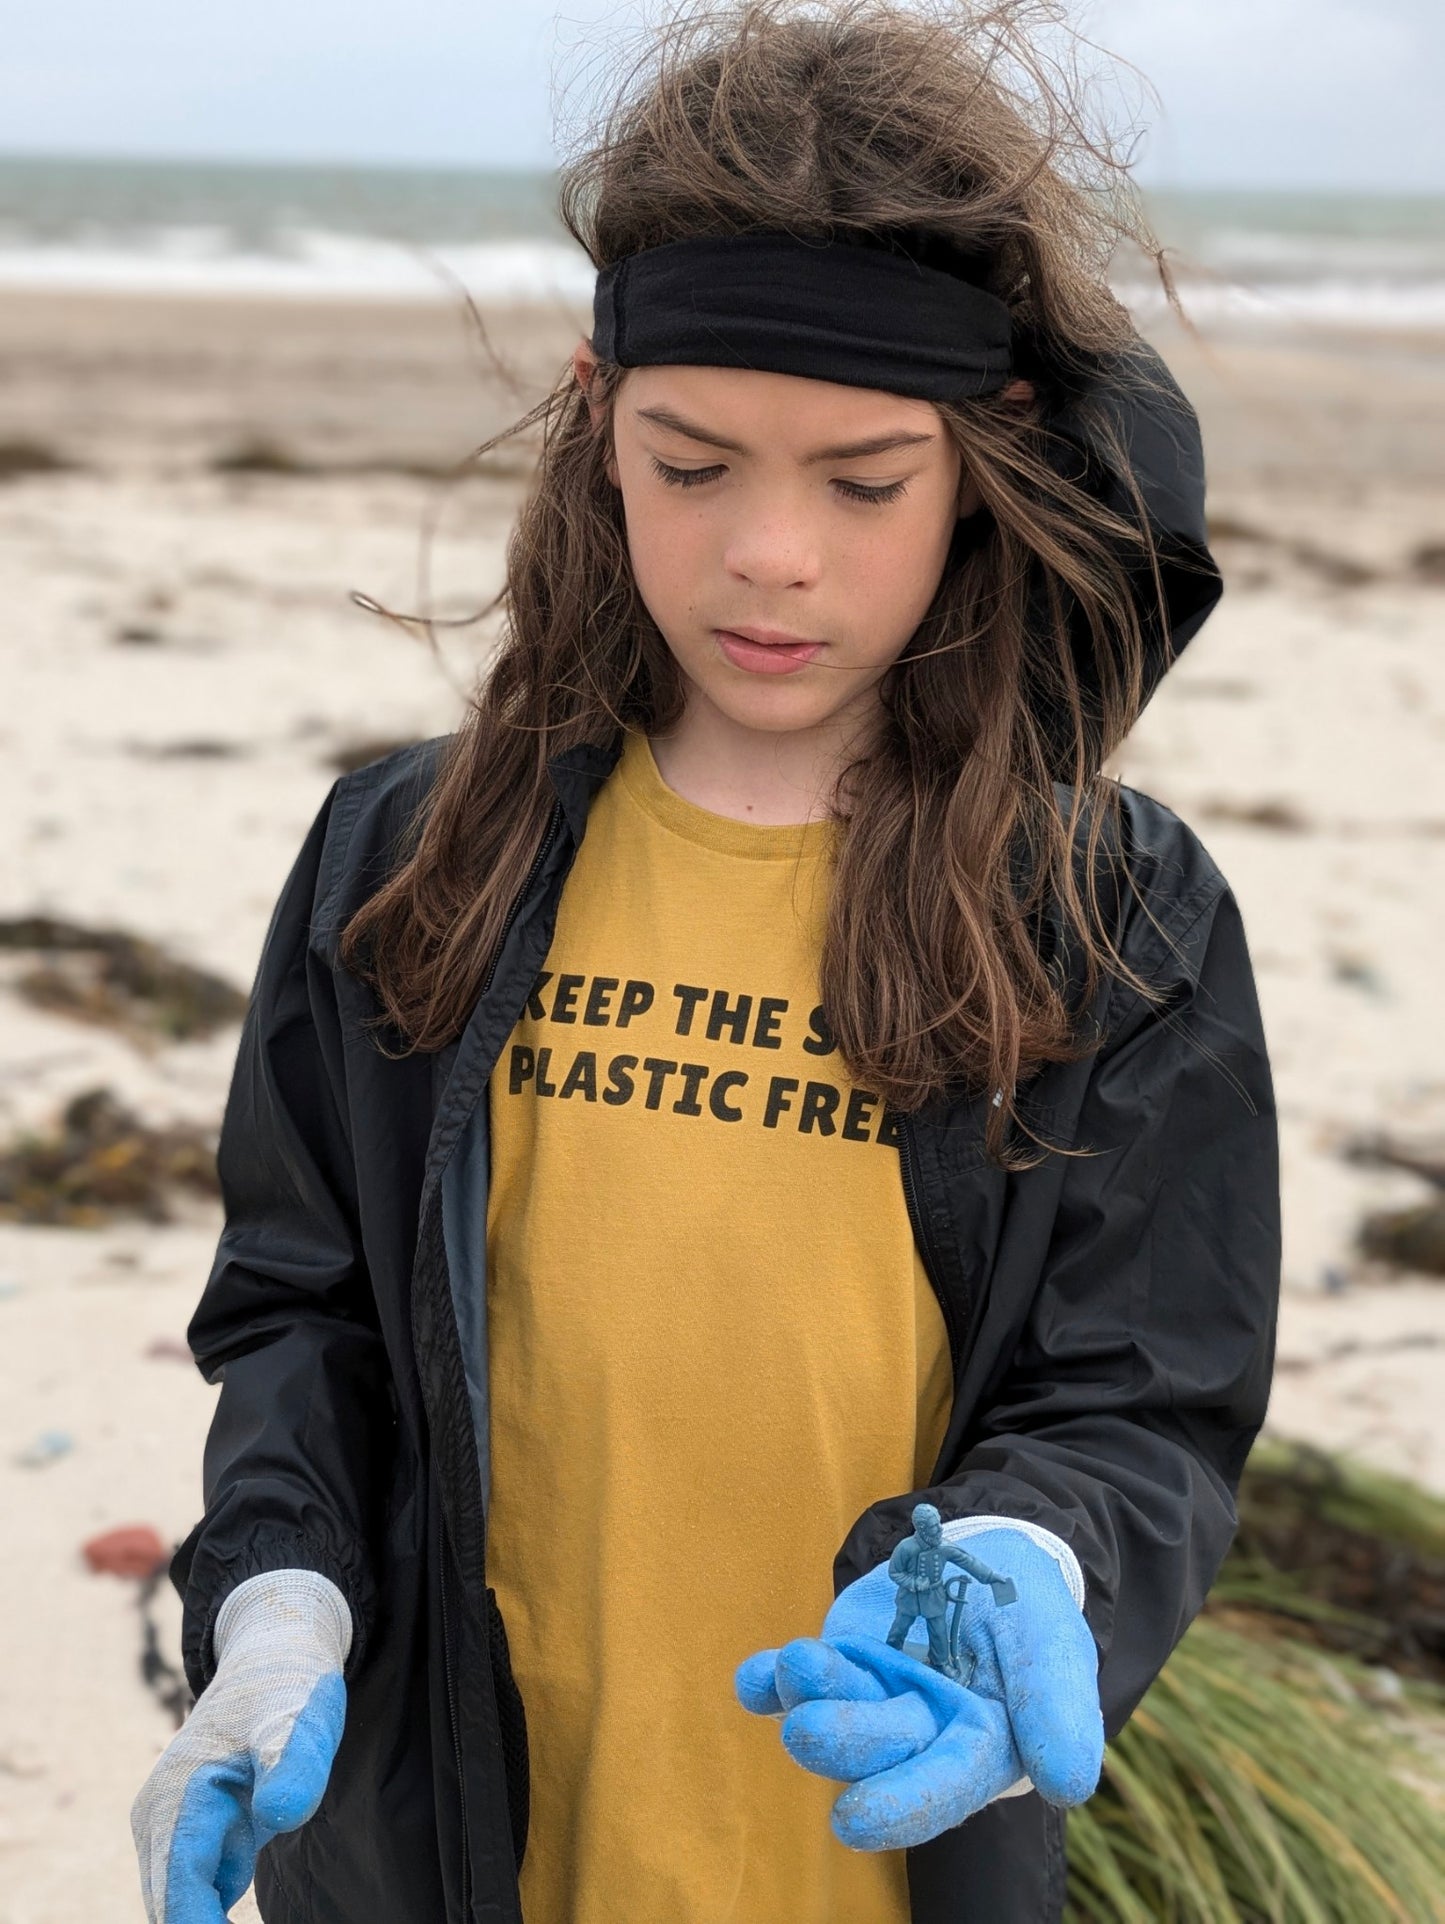
[[[1287,1566],[1291,1547],[1308,1568]],[[1333,1551],[1345,1601],[1328,1593]],[[1210,1608],[1070,1812],[1068,1924],[1441,1924],[1445,1770],[1414,1734],[1445,1728],[1418,1635],[1443,1553],[1445,1503],[1428,1491],[1260,1449]],[[1391,1622],[1362,1603],[1393,1595],[1403,1555],[1414,1587]],[[1383,1647],[1410,1657],[1408,1680],[1353,1655]]]

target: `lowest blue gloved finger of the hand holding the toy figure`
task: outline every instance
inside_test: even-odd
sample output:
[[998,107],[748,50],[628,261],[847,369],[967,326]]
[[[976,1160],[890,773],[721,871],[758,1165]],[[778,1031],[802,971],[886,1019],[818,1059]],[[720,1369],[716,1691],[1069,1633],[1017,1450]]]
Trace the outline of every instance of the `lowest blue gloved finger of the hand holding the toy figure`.
[[1002,1705],[979,1697],[925,1751],[843,1791],[833,1805],[833,1835],[852,1851],[927,1843],[993,1803],[1018,1776]]

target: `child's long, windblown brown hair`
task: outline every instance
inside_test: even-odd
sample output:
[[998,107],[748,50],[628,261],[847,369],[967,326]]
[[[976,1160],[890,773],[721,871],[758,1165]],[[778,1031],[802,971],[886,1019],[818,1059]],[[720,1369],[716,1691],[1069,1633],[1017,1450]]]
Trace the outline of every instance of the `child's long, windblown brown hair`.
[[[1147,696],[1141,554],[1156,587],[1158,568],[1143,512],[1110,512],[1047,458],[1043,394],[1133,341],[1106,281],[1122,237],[1172,287],[1126,169],[1029,42],[1029,21],[1054,15],[1020,0],[683,4],[560,185],[562,219],[596,267],[752,227],[908,231],[993,260],[989,287],[1039,392],[939,406],[983,510],[960,523],[881,683],[883,727],[839,781],[820,993],[850,1076],[893,1108],[960,1085],[1001,1091],[987,1151],[1008,1168],[1039,1160],[1016,1141],[1018,1087],[1097,1047],[1041,952],[1041,904],[1056,904],[1083,958],[1079,1006],[1101,970],[1151,995],[1103,925],[1095,873],[1118,810],[1101,762]],[[600,429],[568,366],[506,431],[541,423],[506,550],[502,645],[443,750],[408,858],[344,931],[342,960],[373,983],[379,1022],[408,1052],[468,1022],[552,810],[548,758],[623,727],[662,733],[683,712],[604,473],[621,373],[596,369]]]

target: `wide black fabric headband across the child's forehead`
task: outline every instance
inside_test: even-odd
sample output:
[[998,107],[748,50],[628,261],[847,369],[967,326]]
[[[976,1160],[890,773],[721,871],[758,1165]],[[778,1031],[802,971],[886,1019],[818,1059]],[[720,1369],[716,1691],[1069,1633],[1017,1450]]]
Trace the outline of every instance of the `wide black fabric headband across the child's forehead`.
[[1012,377],[995,294],[902,252],[752,231],[670,240],[602,267],[593,352],[764,367],[922,400],[997,394]]

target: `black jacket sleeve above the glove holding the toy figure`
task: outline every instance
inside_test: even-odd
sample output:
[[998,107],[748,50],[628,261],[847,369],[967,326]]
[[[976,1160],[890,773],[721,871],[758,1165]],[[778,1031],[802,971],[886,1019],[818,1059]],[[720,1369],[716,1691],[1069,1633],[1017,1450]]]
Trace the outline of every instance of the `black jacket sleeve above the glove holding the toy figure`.
[[[956,1472],[883,1512],[927,1497],[945,1522],[1060,1537],[1083,1572],[1110,1737],[1218,1574],[1274,1364],[1274,1095],[1228,887],[1174,947],[1164,1008],[1114,989],[1124,1008],[1074,1145],[1099,1154],[1064,1162],[1027,1318]],[[860,1568],[891,1541],[877,1508],[870,1520],[852,1539]]]

